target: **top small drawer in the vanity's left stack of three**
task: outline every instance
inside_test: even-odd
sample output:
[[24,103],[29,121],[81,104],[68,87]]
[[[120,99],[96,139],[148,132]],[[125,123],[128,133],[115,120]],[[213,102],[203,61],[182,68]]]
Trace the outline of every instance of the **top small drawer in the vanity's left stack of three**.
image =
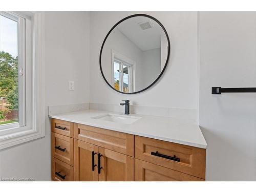
[[74,123],[52,119],[52,132],[74,138]]

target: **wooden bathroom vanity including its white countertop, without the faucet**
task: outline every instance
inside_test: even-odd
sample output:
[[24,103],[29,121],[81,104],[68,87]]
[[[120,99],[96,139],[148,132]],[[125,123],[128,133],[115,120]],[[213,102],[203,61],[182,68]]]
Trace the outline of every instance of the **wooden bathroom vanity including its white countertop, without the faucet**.
[[53,181],[205,180],[207,144],[193,121],[96,110],[50,117]]

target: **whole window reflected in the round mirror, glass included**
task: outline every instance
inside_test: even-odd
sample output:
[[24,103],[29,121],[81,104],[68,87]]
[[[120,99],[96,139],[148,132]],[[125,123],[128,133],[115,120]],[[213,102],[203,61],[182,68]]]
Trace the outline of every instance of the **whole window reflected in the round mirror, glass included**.
[[113,87],[123,93],[133,91],[135,62],[112,50]]

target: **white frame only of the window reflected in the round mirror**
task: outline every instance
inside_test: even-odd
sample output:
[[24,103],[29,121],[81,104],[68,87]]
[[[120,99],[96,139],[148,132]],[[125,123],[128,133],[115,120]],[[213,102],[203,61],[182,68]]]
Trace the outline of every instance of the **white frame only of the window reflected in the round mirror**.
[[114,75],[114,61],[119,63],[119,91],[123,92],[123,65],[124,66],[129,66],[130,67],[130,76],[129,76],[129,92],[133,92],[133,89],[135,87],[135,67],[136,67],[136,62],[130,58],[125,57],[124,55],[116,52],[115,50],[111,49],[111,69],[112,69],[112,85],[115,87],[115,75]]

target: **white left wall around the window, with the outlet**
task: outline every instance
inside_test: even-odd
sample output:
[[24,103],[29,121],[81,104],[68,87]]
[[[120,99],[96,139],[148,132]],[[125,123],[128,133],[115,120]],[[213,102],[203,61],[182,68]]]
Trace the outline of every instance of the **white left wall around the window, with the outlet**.
[[[90,14],[45,13],[46,106],[89,102]],[[73,80],[74,91],[68,90]],[[48,114],[48,113],[46,113]],[[0,152],[0,177],[51,180],[50,121],[46,137]]]

